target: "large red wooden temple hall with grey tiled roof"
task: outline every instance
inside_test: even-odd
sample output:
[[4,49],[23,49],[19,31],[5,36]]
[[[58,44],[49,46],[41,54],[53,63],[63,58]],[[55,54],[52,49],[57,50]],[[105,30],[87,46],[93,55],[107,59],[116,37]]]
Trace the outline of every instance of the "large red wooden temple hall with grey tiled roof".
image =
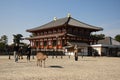
[[76,45],[80,55],[89,55],[89,45],[97,41],[91,33],[101,30],[68,15],[60,19],[54,17],[51,22],[26,31],[33,34],[27,38],[33,49],[47,51],[48,54],[56,51],[55,54],[73,55],[73,46]]

